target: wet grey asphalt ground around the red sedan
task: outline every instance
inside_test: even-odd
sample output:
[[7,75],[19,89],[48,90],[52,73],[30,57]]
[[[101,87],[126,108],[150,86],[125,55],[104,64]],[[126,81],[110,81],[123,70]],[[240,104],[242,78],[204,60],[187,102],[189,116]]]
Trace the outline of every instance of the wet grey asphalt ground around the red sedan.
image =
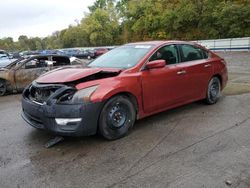
[[[66,138],[20,117],[20,95],[0,98],[0,188],[250,187],[250,53],[220,53],[229,84],[212,106],[201,102],[140,120],[127,137]],[[226,184],[231,184],[228,186]]]

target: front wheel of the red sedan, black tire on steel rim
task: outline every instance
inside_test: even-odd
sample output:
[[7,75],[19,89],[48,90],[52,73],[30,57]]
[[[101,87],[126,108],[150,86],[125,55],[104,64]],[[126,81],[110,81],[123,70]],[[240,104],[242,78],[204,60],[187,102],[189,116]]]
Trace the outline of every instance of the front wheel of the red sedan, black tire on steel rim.
[[128,134],[135,123],[136,110],[126,96],[118,95],[104,105],[99,118],[99,133],[108,140]]

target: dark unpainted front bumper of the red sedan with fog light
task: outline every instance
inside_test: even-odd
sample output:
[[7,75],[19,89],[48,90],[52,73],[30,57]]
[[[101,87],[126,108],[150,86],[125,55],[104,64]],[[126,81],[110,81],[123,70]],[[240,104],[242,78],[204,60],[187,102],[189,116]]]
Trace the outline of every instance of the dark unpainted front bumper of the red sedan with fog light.
[[96,134],[103,102],[57,104],[56,101],[40,104],[23,92],[22,117],[31,126],[61,136],[89,136]]

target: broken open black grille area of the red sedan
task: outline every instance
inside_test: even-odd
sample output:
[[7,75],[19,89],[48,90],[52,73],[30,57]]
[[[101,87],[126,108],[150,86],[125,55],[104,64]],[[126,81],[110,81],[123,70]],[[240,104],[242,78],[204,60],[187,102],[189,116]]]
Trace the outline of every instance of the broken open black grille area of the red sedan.
[[29,98],[37,103],[43,104],[60,87],[57,86],[34,86],[29,89]]

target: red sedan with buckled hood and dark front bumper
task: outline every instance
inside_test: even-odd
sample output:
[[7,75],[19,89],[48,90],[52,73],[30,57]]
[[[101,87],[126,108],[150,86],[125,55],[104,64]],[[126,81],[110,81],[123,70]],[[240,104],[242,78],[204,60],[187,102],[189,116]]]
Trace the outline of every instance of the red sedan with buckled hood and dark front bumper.
[[137,119],[193,101],[216,103],[227,80],[224,59],[197,44],[126,44],[86,68],[40,76],[23,92],[22,117],[57,135],[117,139]]

